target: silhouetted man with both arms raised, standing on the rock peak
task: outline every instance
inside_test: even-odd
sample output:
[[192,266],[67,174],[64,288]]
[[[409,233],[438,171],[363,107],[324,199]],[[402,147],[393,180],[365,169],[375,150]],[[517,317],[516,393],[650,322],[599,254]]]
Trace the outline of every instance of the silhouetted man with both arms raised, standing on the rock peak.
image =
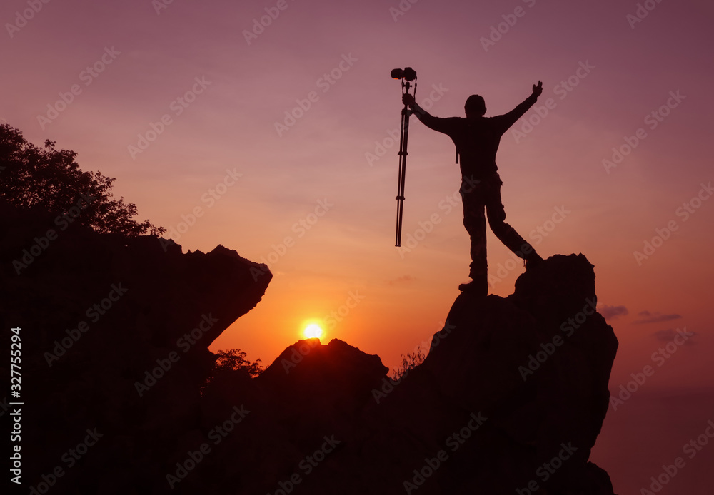
[[[486,264],[486,208],[488,225],[496,237],[516,256],[526,260],[526,269],[543,260],[511,225],[506,223],[506,211],[501,204],[501,178],[496,167],[496,151],[503,133],[523,116],[528,108],[543,93],[543,83],[533,85],[533,94],[505,115],[484,117],[486,103],[478,95],[471,95],[463,106],[466,118],[438,118],[418,106],[411,94],[403,96],[403,103],[428,128],[449,136],[456,144],[456,159],[461,164],[461,200],[463,203],[463,226],[471,238],[471,265],[469,277],[473,280],[458,286],[459,290],[476,294],[488,294]],[[459,159],[460,158],[460,159]]]

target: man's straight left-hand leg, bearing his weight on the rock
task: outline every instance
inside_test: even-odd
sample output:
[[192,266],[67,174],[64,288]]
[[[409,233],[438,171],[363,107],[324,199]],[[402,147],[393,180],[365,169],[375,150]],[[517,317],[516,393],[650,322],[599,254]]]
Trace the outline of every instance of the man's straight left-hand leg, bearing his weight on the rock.
[[[471,238],[471,265],[468,276],[474,281],[468,284],[469,292],[488,293],[488,265],[486,263],[486,216],[483,213],[483,191],[481,185],[461,184],[463,203],[463,226]],[[460,286],[461,288],[462,286]]]

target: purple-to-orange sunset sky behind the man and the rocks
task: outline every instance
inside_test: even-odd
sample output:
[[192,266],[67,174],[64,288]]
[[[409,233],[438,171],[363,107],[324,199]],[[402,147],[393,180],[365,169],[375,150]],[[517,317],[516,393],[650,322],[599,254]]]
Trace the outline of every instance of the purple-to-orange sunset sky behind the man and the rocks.
[[[714,419],[705,400],[714,387],[714,202],[703,187],[714,178],[714,7],[644,4],[653,9],[639,19],[637,2],[613,0],[403,0],[404,11],[396,0],[174,0],[158,13],[150,0],[68,0],[30,16],[26,1],[8,0],[0,118],[117,178],[116,195],[142,220],[178,228],[201,208],[178,239],[184,252],[222,244],[275,260],[263,302],[213,350],[240,347],[268,364],[308,320],[322,320],[324,342],[346,340],[393,368],[441,327],[468,280],[468,236],[461,205],[448,208],[459,182],[453,145],[413,118],[403,245],[430,232],[410,251],[393,246],[398,143],[389,136],[401,101],[389,71],[415,68],[417,101],[436,116],[463,115],[472,93],[486,98],[487,116],[505,113],[543,81],[541,115],[531,109],[512,128],[523,135],[501,141],[503,202],[541,255],[583,252],[599,304],[626,308],[610,319],[620,340],[610,389],[655,367],[639,396],[610,410],[595,449],[615,491],[635,492]],[[489,36],[496,41],[484,43]],[[71,103],[56,105],[60,93]],[[286,111],[299,118],[284,121]],[[535,126],[524,128],[528,119]],[[603,159],[628,141],[634,149],[606,170]],[[383,153],[377,143],[386,154],[370,158]],[[667,239],[638,263],[633,252],[658,235]],[[492,275],[510,268],[492,288],[506,296],[523,267],[491,233],[488,242]],[[653,353],[685,328],[695,335],[658,366]],[[640,450],[623,458],[618,440]],[[678,475],[688,494],[709,493],[708,449]],[[674,482],[665,490],[677,493]]]

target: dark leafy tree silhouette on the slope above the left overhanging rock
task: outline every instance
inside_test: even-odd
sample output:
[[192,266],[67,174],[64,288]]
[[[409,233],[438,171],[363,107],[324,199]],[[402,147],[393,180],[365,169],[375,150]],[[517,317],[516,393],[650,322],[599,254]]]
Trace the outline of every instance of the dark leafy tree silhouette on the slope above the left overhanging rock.
[[58,215],[72,212],[73,220],[99,233],[126,236],[166,232],[145,220],[137,222],[136,205],[114,199],[114,178],[84,172],[71,150],[58,150],[46,140],[38,148],[9,124],[0,125],[0,198],[16,208],[44,208]]

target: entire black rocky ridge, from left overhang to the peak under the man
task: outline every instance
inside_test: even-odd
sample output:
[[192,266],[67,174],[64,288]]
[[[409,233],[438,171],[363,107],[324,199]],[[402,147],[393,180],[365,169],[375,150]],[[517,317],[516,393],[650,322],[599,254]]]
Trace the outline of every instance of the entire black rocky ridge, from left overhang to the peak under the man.
[[267,267],[79,228],[45,243],[52,220],[0,211],[25,493],[613,494],[588,457],[618,343],[583,255],[506,298],[461,294],[398,381],[346,342],[301,340],[206,387],[208,345],[261,300]]

